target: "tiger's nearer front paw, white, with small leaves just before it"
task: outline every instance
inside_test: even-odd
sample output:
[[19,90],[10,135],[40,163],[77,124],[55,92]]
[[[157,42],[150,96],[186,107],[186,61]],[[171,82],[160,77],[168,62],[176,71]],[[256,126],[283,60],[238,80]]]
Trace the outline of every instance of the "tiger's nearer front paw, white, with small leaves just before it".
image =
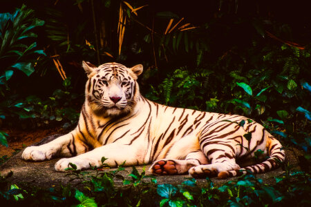
[[91,166],[100,166],[102,164],[100,161],[95,159],[81,157],[63,158],[57,161],[55,164],[55,170],[64,172],[66,168],[70,168],[70,163],[75,164],[75,166],[77,166],[77,170],[84,170],[91,168]]

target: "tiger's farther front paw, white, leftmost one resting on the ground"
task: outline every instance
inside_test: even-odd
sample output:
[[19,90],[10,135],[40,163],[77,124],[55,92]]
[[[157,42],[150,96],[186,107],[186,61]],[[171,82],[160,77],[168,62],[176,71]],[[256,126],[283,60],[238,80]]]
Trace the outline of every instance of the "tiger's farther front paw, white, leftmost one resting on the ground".
[[51,159],[53,155],[56,154],[57,150],[55,148],[50,148],[46,146],[30,146],[23,150],[21,158],[25,160],[42,161],[46,159]]

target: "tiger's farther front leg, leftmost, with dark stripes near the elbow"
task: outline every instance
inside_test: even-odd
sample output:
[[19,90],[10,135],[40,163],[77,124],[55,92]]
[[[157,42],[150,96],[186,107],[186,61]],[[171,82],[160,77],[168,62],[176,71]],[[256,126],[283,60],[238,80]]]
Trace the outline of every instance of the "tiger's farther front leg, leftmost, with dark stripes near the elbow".
[[42,161],[53,157],[73,157],[87,152],[91,146],[85,144],[77,131],[73,130],[67,135],[63,135],[41,146],[30,146],[23,150],[22,159]]

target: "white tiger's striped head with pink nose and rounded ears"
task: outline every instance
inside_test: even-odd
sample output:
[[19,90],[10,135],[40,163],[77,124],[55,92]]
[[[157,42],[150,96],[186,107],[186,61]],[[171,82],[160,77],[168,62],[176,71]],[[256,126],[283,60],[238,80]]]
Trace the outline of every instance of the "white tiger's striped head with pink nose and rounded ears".
[[139,98],[138,76],[142,65],[126,68],[119,63],[105,63],[93,66],[82,62],[88,75],[86,101],[98,116],[124,115],[135,107]]

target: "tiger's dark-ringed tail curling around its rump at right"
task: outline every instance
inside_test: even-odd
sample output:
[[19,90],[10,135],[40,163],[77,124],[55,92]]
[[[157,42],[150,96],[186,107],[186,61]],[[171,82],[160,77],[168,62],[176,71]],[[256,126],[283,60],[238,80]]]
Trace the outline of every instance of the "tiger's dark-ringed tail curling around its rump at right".
[[281,143],[277,139],[272,136],[269,136],[267,139],[267,154],[270,155],[268,159],[254,166],[247,166],[238,170],[219,172],[218,179],[241,176],[250,172],[258,174],[278,168],[285,160],[285,152]]

